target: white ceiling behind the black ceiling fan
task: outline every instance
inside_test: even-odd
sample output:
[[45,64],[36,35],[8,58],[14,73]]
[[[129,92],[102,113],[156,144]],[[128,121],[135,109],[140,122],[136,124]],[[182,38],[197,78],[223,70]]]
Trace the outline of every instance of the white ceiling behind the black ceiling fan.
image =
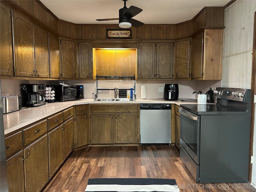
[[[75,24],[118,24],[118,10],[122,0],[41,0],[59,19]],[[145,24],[176,24],[192,19],[205,6],[225,6],[230,0],[128,0],[143,11],[133,18]]]

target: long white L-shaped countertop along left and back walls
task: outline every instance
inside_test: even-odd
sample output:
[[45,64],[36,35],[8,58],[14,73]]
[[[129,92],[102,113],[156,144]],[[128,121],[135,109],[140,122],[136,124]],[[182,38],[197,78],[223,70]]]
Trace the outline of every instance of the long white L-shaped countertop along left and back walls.
[[80,99],[74,101],[66,101],[66,102],[54,102],[54,103],[46,103],[45,105],[38,107],[31,107],[21,109],[15,112],[7,113],[3,115],[4,119],[4,134],[9,134],[10,132],[14,132],[24,126],[27,126],[31,123],[34,123],[38,120],[46,118],[54,113],[60,112],[66,108],[69,108],[74,105],[80,104],[99,104],[99,103],[168,103],[168,104],[197,104],[197,102],[187,102],[187,101],[168,101],[164,100],[164,98],[152,98],[152,99],[136,99],[136,101],[97,101],[95,102],[93,99]]

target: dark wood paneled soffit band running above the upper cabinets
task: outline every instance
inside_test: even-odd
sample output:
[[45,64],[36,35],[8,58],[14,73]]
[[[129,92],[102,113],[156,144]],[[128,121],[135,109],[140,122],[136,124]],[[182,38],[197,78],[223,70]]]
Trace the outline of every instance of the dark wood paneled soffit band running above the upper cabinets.
[[[58,19],[40,0],[1,0],[14,9],[38,19],[50,30],[60,36],[77,39],[106,39],[107,29],[119,29],[118,24],[74,24]],[[223,7],[206,7],[192,20],[179,24],[144,25],[139,28],[131,27],[132,39],[179,39],[187,38],[202,27],[223,27]]]

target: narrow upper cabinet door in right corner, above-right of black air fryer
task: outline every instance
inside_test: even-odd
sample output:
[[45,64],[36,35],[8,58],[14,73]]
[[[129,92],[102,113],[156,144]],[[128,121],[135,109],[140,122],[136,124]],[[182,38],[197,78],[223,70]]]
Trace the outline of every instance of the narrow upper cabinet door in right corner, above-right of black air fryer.
[[190,40],[180,41],[176,44],[176,79],[190,78]]

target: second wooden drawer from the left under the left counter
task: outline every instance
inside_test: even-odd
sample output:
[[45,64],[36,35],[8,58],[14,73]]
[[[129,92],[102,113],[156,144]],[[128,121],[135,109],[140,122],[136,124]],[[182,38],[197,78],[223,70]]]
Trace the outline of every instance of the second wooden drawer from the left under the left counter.
[[38,124],[35,124],[25,130],[24,133],[24,145],[38,138],[39,136],[45,134],[47,132],[47,120],[43,120]]

